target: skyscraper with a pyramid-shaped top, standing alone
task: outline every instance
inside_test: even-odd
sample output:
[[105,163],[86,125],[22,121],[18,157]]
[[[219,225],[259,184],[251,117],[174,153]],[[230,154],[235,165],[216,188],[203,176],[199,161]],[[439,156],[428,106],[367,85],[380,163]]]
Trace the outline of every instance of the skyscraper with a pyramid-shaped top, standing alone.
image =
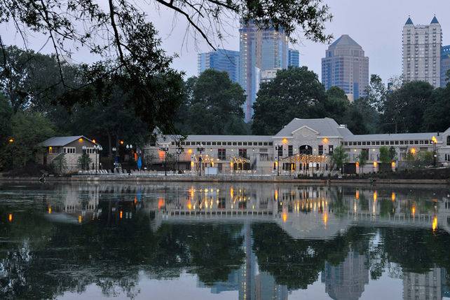
[[328,90],[338,86],[350,101],[365,95],[369,85],[369,57],[350,36],[343,34],[334,41],[322,58],[322,83]]

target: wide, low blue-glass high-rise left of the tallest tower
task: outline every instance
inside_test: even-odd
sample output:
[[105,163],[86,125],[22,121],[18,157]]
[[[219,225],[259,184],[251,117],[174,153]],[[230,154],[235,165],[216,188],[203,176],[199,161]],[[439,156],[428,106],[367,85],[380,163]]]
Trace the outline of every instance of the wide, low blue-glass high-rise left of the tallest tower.
[[226,71],[231,81],[239,81],[239,51],[217,49],[215,51],[198,53],[198,74],[206,69]]

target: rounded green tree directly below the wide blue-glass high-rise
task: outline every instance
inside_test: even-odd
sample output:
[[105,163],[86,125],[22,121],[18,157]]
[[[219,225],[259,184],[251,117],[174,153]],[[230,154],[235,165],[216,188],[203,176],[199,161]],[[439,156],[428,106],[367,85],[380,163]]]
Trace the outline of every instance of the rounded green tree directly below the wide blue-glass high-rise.
[[226,72],[207,69],[188,79],[179,130],[197,135],[243,135],[244,90]]

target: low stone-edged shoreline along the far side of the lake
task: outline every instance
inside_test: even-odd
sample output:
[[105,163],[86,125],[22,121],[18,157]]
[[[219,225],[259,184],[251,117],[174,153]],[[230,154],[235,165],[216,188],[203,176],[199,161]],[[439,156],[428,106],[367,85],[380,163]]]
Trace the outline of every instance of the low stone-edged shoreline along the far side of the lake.
[[[0,177],[1,182],[39,182],[39,177]],[[72,177],[46,177],[46,182],[80,183],[80,182],[245,182],[245,183],[290,183],[290,184],[313,184],[313,185],[340,185],[340,184],[425,184],[425,185],[450,185],[450,179],[295,179],[292,177],[216,177],[216,176],[95,176],[95,175],[75,175]]]

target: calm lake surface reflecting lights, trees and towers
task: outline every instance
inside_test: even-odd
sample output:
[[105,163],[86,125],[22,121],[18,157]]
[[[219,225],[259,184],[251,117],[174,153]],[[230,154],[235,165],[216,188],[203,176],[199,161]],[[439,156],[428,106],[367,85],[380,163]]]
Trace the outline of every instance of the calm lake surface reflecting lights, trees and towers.
[[0,299],[450,298],[450,190],[0,184]]

